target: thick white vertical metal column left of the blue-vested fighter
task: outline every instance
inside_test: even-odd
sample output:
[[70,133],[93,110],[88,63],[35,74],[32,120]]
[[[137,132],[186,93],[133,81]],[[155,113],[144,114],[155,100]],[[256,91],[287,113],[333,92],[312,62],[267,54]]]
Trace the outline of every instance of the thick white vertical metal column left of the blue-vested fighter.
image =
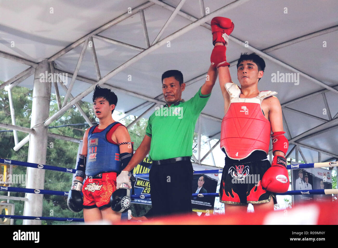
[[[30,163],[46,164],[47,154],[47,127],[42,125],[44,120],[48,118],[51,83],[40,82],[40,73],[49,71],[49,63],[44,60],[39,63],[35,69],[33,84],[33,101],[31,113],[31,128],[34,127],[35,133],[31,134],[28,149],[28,161]],[[45,170],[38,168],[27,168],[28,189],[44,189]],[[24,216],[42,216],[43,195],[27,194],[27,201],[24,207]],[[40,224],[41,220],[24,220],[23,224]]]

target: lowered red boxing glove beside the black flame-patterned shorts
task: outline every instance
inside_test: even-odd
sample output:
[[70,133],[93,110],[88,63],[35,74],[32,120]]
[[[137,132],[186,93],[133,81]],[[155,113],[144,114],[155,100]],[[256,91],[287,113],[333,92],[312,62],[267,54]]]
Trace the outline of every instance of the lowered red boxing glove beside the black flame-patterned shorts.
[[265,171],[262,177],[262,186],[267,191],[284,193],[288,191],[289,173],[286,169],[286,159],[283,156],[274,156],[271,167]]

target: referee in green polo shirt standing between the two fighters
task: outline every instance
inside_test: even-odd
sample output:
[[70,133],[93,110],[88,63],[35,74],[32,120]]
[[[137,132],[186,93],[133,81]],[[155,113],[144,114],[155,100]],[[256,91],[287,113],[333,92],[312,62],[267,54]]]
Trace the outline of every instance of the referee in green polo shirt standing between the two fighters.
[[167,104],[155,108],[141,145],[117,178],[117,185],[129,183],[124,171],[131,171],[150,150],[153,164],[149,181],[154,216],[192,212],[193,135],[216,78],[217,69],[210,66],[207,81],[193,98],[185,102],[182,92],[186,84],[182,73],[171,70],[162,74],[162,91]]

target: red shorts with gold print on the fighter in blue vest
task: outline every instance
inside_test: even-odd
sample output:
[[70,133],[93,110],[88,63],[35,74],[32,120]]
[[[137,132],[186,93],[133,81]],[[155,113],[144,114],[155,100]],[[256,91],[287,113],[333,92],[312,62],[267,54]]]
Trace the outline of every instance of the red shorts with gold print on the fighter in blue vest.
[[110,197],[116,190],[116,172],[103,172],[87,177],[82,187],[83,208],[108,208]]

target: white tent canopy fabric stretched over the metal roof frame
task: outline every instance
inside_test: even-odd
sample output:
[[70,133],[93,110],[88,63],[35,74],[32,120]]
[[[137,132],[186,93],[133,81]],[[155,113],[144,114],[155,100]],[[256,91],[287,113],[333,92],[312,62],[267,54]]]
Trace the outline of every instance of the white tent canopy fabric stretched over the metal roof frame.
[[[141,51],[147,51],[139,9],[143,9],[151,45],[179,2],[0,0],[0,80],[6,82],[30,65],[45,59],[54,61],[58,72],[74,73],[83,42],[91,36],[87,34],[115,20],[115,25],[92,33],[98,67],[103,78]],[[200,3],[203,3],[204,7],[201,8]],[[227,4],[230,5],[218,16],[231,18],[235,24],[227,48],[227,60],[232,62],[230,72],[233,81],[238,83],[236,63],[240,54],[262,51],[266,70],[259,82],[259,89],[278,92],[277,98],[283,107],[284,129],[287,132],[286,137],[290,140],[290,156],[296,156],[296,149],[292,148],[297,144],[304,155],[302,160],[308,163],[318,162],[318,152],[321,153],[322,162],[336,160],[337,1],[187,0],[178,15],[164,29],[160,40],[202,18],[204,12],[207,16],[211,15],[213,11]],[[211,18],[207,24],[170,39],[170,43],[166,42],[108,79],[106,84],[117,87],[117,110],[128,112],[146,103],[146,99],[161,95],[161,75],[171,69],[182,71],[185,82],[198,79],[196,82],[193,80],[183,93],[184,99],[191,98],[204,83],[210,65],[213,49],[210,20]],[[84,36],[78,46],[58,56],[59,51]],[[111,39],[110,42],[115,44],[102,40],[102,37]],[[112,40],[120,43],[116,44]],[[133,47],[121,46],[121,43]],[[55,54],[57,56],[54,56]],[[30,65],[18,62],[17,57],[27,60],[26,63]],[[297,80],[273,81],[273,74],[287,73],[296,73]],[[84,53],[78,76],[82,78],[77,79],[82,81],[75,81],[71,91],[74,97],[98,80],[92,49],[89,46]],[[67,87],[70,81],[71,76],[68,78]],[[33,76],[23,80],[19,86],[32,88]],[[61,86],[58,88],[61,95],[66,95]],[[54,87],[52,92],[55,92]],[[82,100],[91,102],[91,95],[88,94]],[[151,101],[137,111],[129,113],[139,116],[150,106]],[[143,117],[147,118],[151,113],[150,111]],[[201,133],[218,139],[223,117],[223,99],[218,81],[202,113],[204,115],[201,116]]]

